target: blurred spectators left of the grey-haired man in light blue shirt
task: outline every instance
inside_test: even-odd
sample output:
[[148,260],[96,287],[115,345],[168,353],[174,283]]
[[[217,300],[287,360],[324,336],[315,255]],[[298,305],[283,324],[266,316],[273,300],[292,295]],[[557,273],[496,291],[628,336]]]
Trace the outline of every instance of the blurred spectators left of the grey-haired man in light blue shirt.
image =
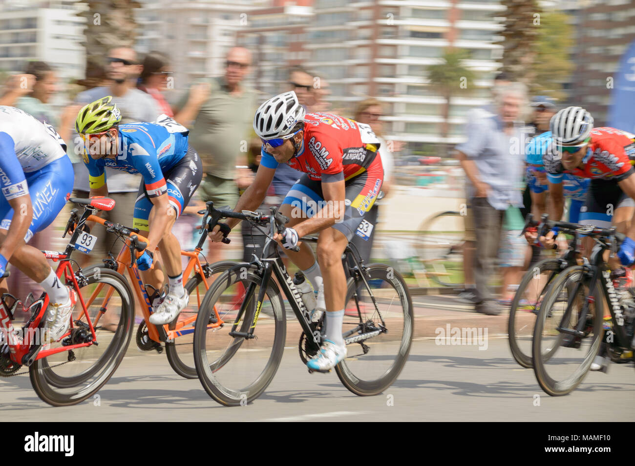
[[[51,124],[67,142],[68,154],[74,167],[75,197],[88,197],[88,171],[82,161],[83,144],[74,131],[77,112],[83,105],[110,95],[112,102],[121,110],[121,123],[133,121],[156,121],[161,114],[173,117],[190,130],[189,142],[203,161],[203,182],[194,200],[180,216],[174,227],[182,248],[193,249],[198,240],[199,216],[197,211],[206,201],[215,206],[236,205],[241,190],[253,181],[260,162],[260,140],[252,128],[253,115],[258,105],[267,98],[246,85],[246,77],[251,72],[251,52],[246,48],[234,47],[227,52],[225,70],[221,76],[198,79],[181,95],[175,90],[168,57],[159,51],[152,51],[139,57],[132,48],[113,48],[104,57],[102,66],[91,65],[86,79],[66,84],[58,82],[55,63],[28,62],[22,74],[8,77],[0,89],[0,105],[10,105],[22,109],[41,121]],[[2,83],[0,83],[2,84]],[[307,112],[334,112],[368,123],[378,136],[382,136],[382,104],[368,99],[356,103],[351,109],[331,109],[326,100],[328,83],[324,77],[311,70],[295,66],[288,70],[287,79],[280,83],[279,92],[293,90]],[[60,100],[66,100],[59,105]],[[60,110],[61,108],[61,110]],[[384,182],[384,196],[389,192],[392,156],[389,145],[382,141],[382,159],[388,162]],[[138,176],[122,171],[106,169],[109,180],[109,196],[116,201],[116,207],[104,216],[116,223],[131,225],[133,206],[139,185]],[[269,196],[261,206],[279,205],[291,185],[300,177],[300,172],[283,165],[276,171]],[[377,208],[374,213],[377,218]],[[41,250],[53,249],[55,238],[67,218],[60,215],[48,229],[36,234],[31,243]],[[99,263],[107,252],[117,255],[121,245],[116,237],[97,225],[93,232],[99,243],[90,255],[83,256],[81,265]],[[264,244],[262,232],[248,229],[243,225],[244,258],[258,253]],[[365,242],[364,242],[365,243]],[[371,243],[366,247],[370,256]],[[227,248],[225,248],[227,250]],[[224,258],[221,243],[208,242],[204,251],[208,262]],[[14,273],[8,283],[9,289],[23,297],[34,290],[34,284],[22,274]]]

